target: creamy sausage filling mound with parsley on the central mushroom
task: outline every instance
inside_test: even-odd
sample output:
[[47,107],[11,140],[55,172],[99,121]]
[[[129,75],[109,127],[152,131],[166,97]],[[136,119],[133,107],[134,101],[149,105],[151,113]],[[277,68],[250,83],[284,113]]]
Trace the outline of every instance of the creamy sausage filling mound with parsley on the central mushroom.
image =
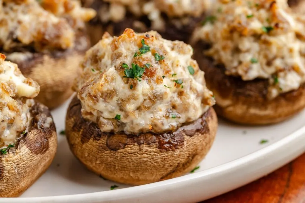
[[173,131],[198,119],[215,101],[192,47],[157,32],[108,33],[87,51],[75,89],[82,116],[101,131]]

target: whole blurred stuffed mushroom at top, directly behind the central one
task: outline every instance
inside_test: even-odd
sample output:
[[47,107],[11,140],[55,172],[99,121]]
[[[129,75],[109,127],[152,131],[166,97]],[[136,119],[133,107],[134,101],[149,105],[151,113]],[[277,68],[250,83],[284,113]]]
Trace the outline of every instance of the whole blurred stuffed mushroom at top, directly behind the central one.
[[137,32],[158,31],[168,40],[188,42],[192,31],[210,6],[210,0],[84,0],[85,7],[96,10],[88,23],[91,43],[105,31],[118,36],[126,28]]

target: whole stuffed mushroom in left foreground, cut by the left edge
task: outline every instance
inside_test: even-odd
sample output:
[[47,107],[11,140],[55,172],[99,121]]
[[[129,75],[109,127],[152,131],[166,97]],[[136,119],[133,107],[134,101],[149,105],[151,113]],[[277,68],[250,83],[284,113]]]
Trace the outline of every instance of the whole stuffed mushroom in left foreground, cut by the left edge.
[[0,54],[0,197],[17,197],[47,170],[57,148],[47,107],[32,98],[39,85]]

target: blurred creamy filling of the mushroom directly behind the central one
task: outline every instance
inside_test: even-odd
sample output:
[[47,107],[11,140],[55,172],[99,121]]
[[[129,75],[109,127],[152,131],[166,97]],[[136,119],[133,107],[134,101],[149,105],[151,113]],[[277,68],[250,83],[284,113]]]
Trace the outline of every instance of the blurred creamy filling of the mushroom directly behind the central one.
[[210,0],[104,0],[104,2],[108,2],[109,6],[102,7],[98,11],[103,23],[119,22],[130,12],[135,16],[147,16],[152,22],[153,30],[165,29],[162,13],[170,18],[181,18],[180,23],[187,24],[189,16],[201,16],[210,5]]

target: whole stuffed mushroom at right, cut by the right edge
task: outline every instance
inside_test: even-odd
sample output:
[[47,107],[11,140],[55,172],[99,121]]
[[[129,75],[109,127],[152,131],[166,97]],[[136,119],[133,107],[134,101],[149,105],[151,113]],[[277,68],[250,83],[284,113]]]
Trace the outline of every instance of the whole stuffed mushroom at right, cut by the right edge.
[[305,107],[304,20],[287,2],[217,2],[192,44],[219,115],[272,124]]

